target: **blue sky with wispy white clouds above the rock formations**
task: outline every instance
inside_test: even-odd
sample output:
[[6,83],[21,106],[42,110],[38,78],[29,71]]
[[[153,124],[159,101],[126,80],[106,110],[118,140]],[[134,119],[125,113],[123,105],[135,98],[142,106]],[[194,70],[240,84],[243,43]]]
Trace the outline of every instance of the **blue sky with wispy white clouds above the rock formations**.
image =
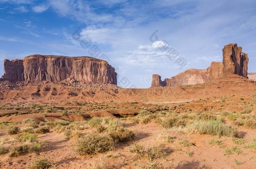
[[[154,73],[163,80],[222,61],[229,43],[243,47],[248,71],[256,72],[255,0],[0,0],[0,76],[5,58],[90,56],[97,46],[96,57],[107,57],[120,86],[144,88]],[[174,60],[159,49],[167,44],[178,52]]]

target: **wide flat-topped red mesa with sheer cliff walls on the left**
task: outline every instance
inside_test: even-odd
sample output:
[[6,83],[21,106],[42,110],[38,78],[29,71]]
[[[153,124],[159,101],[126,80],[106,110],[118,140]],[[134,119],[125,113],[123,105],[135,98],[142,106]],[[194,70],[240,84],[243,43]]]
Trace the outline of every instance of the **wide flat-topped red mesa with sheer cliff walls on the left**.
[[59,82],[70,78],[84,83],[117,84],[115,68],[97,58],[30,55],[23,60],[4,61],[4,80]]

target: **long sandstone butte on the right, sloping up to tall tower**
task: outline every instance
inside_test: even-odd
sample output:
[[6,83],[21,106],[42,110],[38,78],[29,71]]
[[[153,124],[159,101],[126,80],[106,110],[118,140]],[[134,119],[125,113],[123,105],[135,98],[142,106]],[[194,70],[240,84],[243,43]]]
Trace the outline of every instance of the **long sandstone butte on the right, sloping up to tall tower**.
[[[225,45],[222,49],[223,62],[212,62],[207,69],[188,69],[171,78],[161,80],[161,76],[153,74],[152,87],[158,86],[183,86],[202,84],[214,81],[217,78],[237,74],[248,78],[248,55],[242,53],[242,47],[238,47],[236,43]],[[251,73],[250,78],[255,78]],[[253,79],[252,79],[253,80]]]

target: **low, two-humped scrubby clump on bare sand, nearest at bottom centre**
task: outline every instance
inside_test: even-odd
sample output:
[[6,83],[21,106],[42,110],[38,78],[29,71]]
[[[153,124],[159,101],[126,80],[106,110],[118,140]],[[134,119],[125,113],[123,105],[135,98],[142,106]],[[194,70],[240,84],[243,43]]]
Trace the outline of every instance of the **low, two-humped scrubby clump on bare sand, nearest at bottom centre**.
[[152,146],[146,149],[144,146],[140,144],[135,144],[130,151],[131,153],[136,154],[136,159],[141,159],[145,157],[149,159],[149,161],[153,161],[154,159],[160,157],[165,158],[166,156],[166,153],[156,146]]

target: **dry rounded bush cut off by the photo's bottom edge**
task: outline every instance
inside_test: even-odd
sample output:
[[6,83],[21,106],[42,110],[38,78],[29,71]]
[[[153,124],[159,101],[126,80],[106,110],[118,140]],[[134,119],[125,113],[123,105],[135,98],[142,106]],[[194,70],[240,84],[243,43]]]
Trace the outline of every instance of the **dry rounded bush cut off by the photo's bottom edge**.
[[32,160],[28,168],[29,169],[50,169],[54,166],[55,164],[49,159],[40,157],[38,159]]

